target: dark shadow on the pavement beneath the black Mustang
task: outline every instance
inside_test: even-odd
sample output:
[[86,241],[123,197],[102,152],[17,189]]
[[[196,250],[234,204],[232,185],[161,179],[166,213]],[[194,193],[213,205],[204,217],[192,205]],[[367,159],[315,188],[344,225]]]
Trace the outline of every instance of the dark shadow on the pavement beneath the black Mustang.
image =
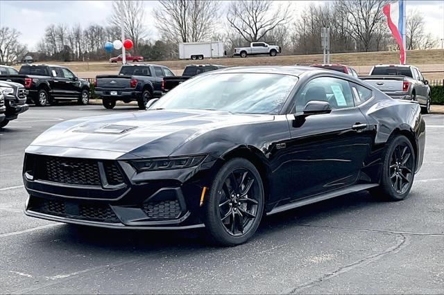
[[[323,219],[341,218],[341,215],[350,214],[350,211],[364,211],[370,206],[384,206],[367,192],[352,193],[334,199],[296,208],[284,213],[265,217],[257,233],[250,242],[261,240],[266,242],[268,234],[296,228],[302,224],[310,224]],[[45,237],[46,236],[46,237]],[[37,238],[37,236],[35,237]],[[53,240],[62,240],[66,245],[89,249],[117,251],[117,252],[151,252],[157,249],[171,251],[187,249],[218,248],[205,239],[205,229],[187,231],[146,231],[131,229],[101,229],[92,226],[78,226],[64,224],[51,231],[38,235],[39,242],[48,240],[48,247]],[[75,245],[75,246],[74,246]]]

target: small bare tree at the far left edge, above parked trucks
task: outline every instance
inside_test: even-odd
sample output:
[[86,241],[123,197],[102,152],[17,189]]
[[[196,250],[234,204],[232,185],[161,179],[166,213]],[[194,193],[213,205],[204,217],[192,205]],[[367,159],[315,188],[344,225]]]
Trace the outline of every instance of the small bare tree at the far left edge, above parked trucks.
[[8,64],[17,60],[20,55],[26,51],[26,46],[20,44],[19,31],[15,28],[0,28],[0,62]]

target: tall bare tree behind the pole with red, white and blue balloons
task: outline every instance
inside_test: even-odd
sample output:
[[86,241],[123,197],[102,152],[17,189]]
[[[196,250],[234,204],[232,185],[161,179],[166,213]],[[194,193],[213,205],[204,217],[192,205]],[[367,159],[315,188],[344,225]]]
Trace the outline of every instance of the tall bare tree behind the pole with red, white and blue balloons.
[[123,25],[125,34],[133,40],[134,51],[137,52],[139,40],[146,37],[144,27],[145,6],[140,0],[120,0],[112,2],[112,24],[114,28],[120,28],[121,13],[125,16]]

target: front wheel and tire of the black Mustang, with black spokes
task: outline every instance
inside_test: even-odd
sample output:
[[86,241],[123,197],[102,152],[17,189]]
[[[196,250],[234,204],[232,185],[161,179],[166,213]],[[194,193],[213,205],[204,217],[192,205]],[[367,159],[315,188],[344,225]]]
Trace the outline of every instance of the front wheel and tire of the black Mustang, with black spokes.
[[242,158],[225,163],[205,199],[205,229],[212,241],[224,246],[246,242],[259,226],[264,199],[262,179],[253,163]]

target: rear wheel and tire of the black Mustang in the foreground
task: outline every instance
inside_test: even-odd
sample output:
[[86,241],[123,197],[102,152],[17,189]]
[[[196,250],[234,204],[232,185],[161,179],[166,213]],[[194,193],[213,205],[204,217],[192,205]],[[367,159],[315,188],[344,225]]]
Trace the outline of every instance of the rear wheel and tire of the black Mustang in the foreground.
[[372,190],[376,197],[400,201],[409,195],[415,177],[416,157],[409,138],[396,135],[384,151],[381,184]]

